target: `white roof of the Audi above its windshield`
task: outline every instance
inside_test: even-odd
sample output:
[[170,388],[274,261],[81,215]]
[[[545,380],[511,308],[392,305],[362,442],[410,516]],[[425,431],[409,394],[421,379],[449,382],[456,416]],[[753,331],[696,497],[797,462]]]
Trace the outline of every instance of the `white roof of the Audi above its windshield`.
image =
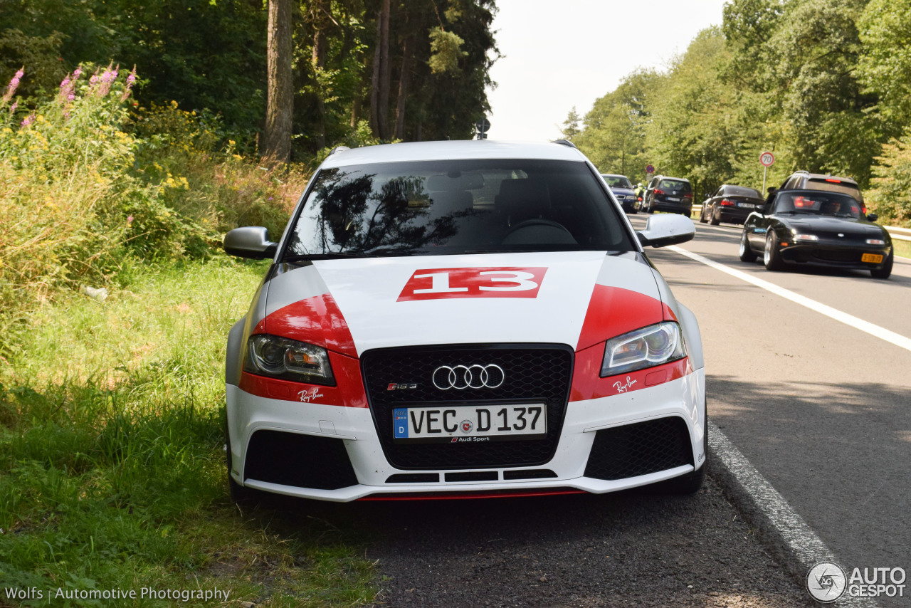
[[336,149],[323,161],[323,168],[348,167],[376,162],[408,160],[467,159],[540,159],[586,160],[578,149],[552,142],[492,141],[459,139],[454,141],[414,141],[363,148]]

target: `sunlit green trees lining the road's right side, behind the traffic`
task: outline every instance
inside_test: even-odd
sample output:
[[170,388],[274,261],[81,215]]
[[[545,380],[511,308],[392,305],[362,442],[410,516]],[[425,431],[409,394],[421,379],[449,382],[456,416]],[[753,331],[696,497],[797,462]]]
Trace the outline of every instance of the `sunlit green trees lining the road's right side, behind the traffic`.
[[[911,221],[911,0],[732,0],[664,70],[595,101],[572,138],[605,172],[651,163],[701,195],[793,170],[849,176],[880,215]],[[578,125],[581,122],[581,125]]]

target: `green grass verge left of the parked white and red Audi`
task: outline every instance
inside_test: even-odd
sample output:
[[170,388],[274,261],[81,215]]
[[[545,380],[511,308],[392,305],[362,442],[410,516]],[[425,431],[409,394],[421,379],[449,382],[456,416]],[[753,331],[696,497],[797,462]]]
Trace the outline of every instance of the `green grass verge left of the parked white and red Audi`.
[[228,593],[187,605],[373,601],[358,540],[228,498],[224,345],[263,271],[189,263],[30,317],[0,360],[0,606],[174,603],[144,588]]

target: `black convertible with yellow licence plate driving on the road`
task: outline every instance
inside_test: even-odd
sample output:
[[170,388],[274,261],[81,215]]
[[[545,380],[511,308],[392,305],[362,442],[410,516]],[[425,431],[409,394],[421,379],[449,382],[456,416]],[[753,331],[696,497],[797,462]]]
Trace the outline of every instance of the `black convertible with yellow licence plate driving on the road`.
[[768,270],[814,265],[868,270],[877,279],[892,273],[892,240],[864,215],[855,199],[837,192],[775,191],[743,223],[742,262],[763,256]]

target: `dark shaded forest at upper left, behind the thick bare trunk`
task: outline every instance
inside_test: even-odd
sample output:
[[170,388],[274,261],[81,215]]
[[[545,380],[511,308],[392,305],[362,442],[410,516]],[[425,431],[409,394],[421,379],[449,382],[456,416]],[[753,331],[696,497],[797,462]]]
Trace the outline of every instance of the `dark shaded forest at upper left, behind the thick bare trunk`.
[[494,0],[4,0],[0,77],[26,67],[24,112],[77,66],[136,66],[139,104],[206,110],[255,152],[273,3],[291,15],[292,160],[470,138],[489,108]]

